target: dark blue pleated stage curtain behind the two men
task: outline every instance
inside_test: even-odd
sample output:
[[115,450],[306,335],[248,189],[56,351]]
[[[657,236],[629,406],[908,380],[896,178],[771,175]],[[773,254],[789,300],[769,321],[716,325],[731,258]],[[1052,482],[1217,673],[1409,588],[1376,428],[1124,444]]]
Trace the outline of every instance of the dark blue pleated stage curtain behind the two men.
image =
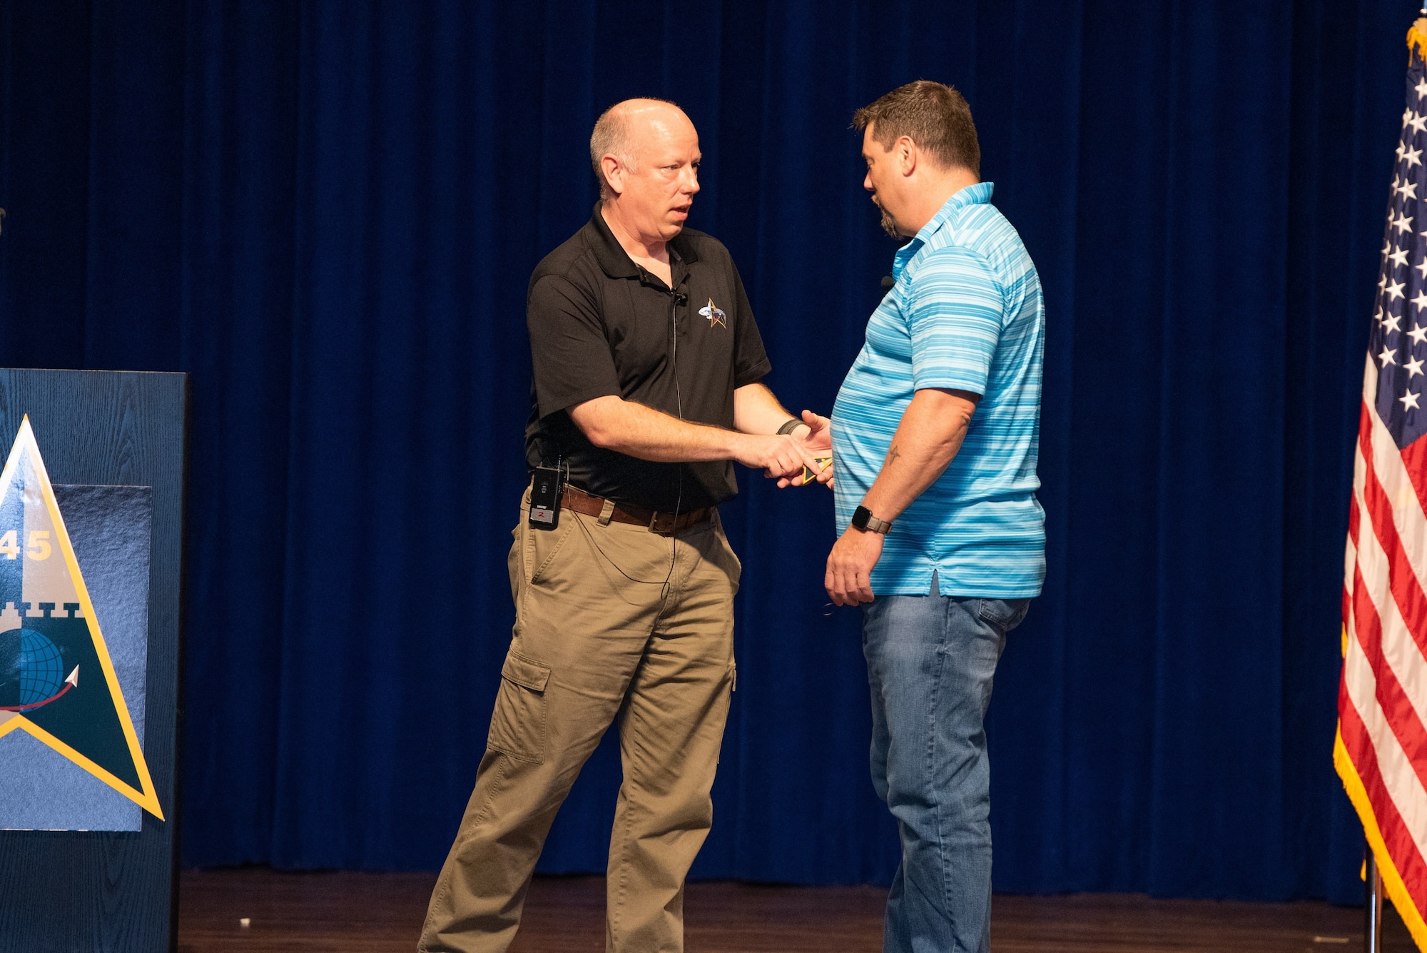
[[[1049,314],[997,889],[1357,899],[1339,593],[1414,7],[0,0],[3,361],[193,374],[184,859],[440,865],[512,618],[527,278],[589,214],[595,116],[685,106],[694,224],[826,411],[893,251],[848,123],[928,77]],[[741,479],[695,875],[886,882],[831,495]],[[544,870],[602,867],[609,740]]]

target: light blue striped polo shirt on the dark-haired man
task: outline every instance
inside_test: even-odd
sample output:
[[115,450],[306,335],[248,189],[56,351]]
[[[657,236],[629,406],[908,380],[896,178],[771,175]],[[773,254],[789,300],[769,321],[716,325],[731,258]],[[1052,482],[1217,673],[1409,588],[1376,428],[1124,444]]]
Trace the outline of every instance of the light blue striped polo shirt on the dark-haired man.
[[926,595],[933,571],[942,595],[1040,595],[1040,278],[990,193],[990,183],[960,190],[898,250],[892,290],[832,409],[841,532],[916,389],[982,395],[950,467],[893,521],[872,571],[875,595]]

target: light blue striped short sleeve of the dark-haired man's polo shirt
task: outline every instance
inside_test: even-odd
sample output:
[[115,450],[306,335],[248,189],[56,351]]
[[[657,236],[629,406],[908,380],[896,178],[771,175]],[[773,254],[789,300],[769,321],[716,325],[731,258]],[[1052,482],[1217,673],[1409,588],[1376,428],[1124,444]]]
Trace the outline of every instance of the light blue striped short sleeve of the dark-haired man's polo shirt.
[[990,265],[968,248],[938,248],[910,284],[912,385],[986,394],[1006,307]]

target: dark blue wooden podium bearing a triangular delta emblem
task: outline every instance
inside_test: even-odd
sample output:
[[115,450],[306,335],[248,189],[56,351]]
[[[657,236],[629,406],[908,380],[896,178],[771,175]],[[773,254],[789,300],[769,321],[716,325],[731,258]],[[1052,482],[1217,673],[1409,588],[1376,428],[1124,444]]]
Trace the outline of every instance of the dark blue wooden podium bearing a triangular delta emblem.
[[177,949],[183,374],[0,370],[0,947]]

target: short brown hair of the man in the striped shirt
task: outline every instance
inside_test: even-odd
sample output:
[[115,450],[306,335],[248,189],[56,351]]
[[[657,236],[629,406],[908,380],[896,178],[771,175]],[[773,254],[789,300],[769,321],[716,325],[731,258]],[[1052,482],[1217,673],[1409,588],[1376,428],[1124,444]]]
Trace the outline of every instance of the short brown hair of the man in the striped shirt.
[[980,178],[980,144],[966,97],[953,87],[932,80],[899,86],[870,106],[852,114],[852,128],[872,126],[872,138],[882,148],[903,136],[943,168],[969,168]]

